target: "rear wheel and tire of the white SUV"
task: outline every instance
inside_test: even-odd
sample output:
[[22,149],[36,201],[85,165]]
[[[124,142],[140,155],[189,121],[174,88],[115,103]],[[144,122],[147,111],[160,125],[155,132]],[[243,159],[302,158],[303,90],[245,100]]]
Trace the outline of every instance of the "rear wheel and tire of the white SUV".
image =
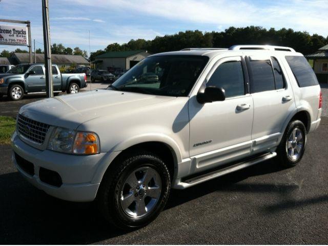
[[302,159],[306,144],[306,128],[302,121],[291,121],[277,148],[279,164],[284,168],[297,165]]

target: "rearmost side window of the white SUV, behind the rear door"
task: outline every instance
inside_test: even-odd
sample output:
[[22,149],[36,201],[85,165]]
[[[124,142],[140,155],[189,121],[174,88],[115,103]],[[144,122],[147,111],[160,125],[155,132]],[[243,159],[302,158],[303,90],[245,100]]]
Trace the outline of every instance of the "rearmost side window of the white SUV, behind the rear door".
[[318,85],[317,77],[304,56],[286,56],[285,58],[299,87]]

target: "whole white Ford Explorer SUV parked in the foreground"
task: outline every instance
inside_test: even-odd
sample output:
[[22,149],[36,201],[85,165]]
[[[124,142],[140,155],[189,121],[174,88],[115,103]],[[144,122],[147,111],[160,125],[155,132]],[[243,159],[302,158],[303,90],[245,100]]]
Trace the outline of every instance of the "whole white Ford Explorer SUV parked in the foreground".
[[319,126],[321,101],[308,62],[288,47],[155,54],[107,90],[23,106],[13,161],[46,193],[96,200],[116,226],[139,228],[171,188],[275,156],[295,166]]

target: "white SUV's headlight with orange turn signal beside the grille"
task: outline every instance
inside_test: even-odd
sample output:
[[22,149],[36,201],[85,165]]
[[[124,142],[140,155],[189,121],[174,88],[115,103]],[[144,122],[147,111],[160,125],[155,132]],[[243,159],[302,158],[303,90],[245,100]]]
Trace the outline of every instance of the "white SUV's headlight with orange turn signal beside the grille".
[[51,134],[48,149],[70,154],[98,154],[99,138],[92,132],[77,132],[57,127]]

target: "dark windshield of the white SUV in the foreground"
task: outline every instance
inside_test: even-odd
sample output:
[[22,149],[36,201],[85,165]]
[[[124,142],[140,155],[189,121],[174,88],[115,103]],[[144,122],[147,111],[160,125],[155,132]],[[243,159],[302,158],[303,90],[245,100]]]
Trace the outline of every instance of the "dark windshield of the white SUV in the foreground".
[[153,95],[188,96],[209,57],[152,56],[120,76],[109,90]]

